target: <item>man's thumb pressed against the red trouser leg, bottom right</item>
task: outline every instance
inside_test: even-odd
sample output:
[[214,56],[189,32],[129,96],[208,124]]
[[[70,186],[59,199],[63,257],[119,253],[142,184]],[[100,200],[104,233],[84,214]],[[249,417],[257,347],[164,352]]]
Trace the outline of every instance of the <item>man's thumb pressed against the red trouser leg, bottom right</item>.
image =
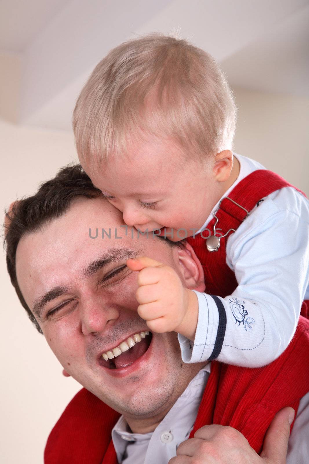
[[269,426],[261,452],[261,458],[267,464],[285,464],[290,438],[290,426],[294,420],[295,411],[286,407],[277,412]]

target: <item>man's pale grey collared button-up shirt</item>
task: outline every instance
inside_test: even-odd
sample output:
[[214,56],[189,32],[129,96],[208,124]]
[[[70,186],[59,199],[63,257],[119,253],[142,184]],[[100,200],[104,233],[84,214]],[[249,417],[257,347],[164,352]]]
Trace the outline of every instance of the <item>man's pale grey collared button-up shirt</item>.
[[[154,432],[132,433],[123,416],[112,430],[120,464],[167,464],[178,445],[189,438],[197,416],[211,365],[203,367],[189,383]],[[309,393],[299,403],[289,439],[287,464],[308,464]]]

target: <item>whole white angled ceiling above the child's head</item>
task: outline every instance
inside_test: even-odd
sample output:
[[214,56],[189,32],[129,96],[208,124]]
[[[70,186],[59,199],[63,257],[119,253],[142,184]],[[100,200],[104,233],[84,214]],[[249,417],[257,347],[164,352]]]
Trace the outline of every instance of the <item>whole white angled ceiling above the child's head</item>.
[[0,50],[23,57],[20,121],[71,129],[95,64],[137,34],[180,28],[232,87],[309,96],[309,0],[2,0]]

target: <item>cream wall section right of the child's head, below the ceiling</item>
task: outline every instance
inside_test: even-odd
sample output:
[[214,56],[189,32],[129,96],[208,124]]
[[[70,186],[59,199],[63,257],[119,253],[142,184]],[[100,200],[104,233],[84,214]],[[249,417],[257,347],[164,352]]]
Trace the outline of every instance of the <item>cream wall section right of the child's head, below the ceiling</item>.
[[234,89],[234,149],[309,196],[309,98]]

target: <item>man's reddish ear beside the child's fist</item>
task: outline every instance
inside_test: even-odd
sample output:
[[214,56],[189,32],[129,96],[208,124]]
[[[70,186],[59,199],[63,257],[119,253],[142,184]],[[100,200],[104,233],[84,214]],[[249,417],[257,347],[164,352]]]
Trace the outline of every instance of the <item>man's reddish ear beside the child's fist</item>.
[[185,286],[190,290],[205,290],[204,272],[200,260],[188,242],[183,242],[184,247],[178,248],[180,271]]

